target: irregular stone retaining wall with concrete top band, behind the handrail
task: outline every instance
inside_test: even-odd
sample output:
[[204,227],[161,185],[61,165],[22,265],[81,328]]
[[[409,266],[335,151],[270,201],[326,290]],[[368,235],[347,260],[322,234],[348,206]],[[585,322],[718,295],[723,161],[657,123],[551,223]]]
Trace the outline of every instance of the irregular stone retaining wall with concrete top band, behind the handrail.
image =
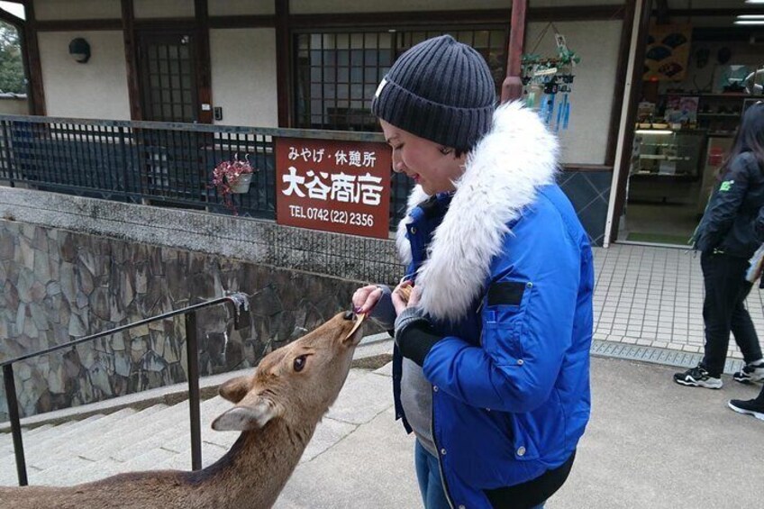
[[[385,268],[390,275],[382,277],[390,279],[399,270],[384,261],[394,257],[391,241],[3,187],[0,207],[5,217],[0,220],[0,359],[196,304],[225,291],[242,291],[253,297],[250,324],[241,331],[232,327],[230,307],[199,312],[200,372],[247,368],[346,308],[360,281],[375,280],[363,278],[370,276],[364,271]],[[119,214],[120,207],[129,208],[135,233],[127,229],[116,233],[119,238],[106,236],[110,227],[114,230],[110,224],[114,217],[104,216]],[[56,218],[54,226],[44,224],[53,223],[45,221],[49,215]],[[88,231],[68,229],[79,223],[86,223]],[[220,229],[210,227],[221,223]],[[225,223],[232,224],[226,229]],[[177,231],[177,224],[187,225],[180,232],[181,241],[171,232]],[[261,241],[259,237],[268,240],[266,248],[254,250],[258,256],[252,255],[251,246],[249,252],[242,250],[249,255],[242,259],[220,252],[246,242],[241,230],[248,226],[250,244]],[[163,227],[170,233],[163,234]],[[221,238],[234,229],[237,238],[223,247]],[[183,241],[193,244],[182,245]],[[187,249],[200,245],[207,252]],[[377,267],[369,270],[372,263],[364,264],[365,257],[374,259]],[[322,260],[328,262],[321,265]],[[342,277],[343,272],[349,276]],[[184,318],[178,316],[24,361],[14,366],[21,413],[38,414],[183,382],[185,337]],[[0,394],[0,421],[6,419],[5,395]]]

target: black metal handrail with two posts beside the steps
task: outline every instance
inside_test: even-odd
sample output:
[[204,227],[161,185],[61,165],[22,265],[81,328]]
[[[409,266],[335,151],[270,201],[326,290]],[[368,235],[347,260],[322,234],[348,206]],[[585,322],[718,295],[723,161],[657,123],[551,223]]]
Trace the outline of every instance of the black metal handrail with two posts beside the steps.
[[3,368],[3,378],[5,381],[5,397],[8,402],[8,415],[14,441],[14,456],[16,459],[16,473],[19,477],[19,486],[27,486],[28,480],[26,476],[26,459],[24,459],[21,420],[19,418],[19,406],[14,381],[14,363],[25,359],[32,359],[33,357],[45,355],[57,350],[73,348],[86,341],[93,341],[116,332],[122,332],[147,323],[165,320],[179,314],[186,316],[186,361],[188,365],[188,409],[191,428],[191,468],[194,470],[202,468],[202,434],[199,423],[199,350],[198,341],[196,339],[196,312],[205,307],[224,303],[233,304],[234,328],[239,330],[245,327],[249,322],[249,295],[236,292],[210,301],[205,301],[201,304],[189,305],[176,311],[159,314],[158,316],[146,318],[139,322],[127,323],[105,332],[98,332],[97,334],[79,338],[75,341],[69,341],[68,343],[56,345],[45,350],[35,351],[16,357],[15,359],[0,362],[0,367]]

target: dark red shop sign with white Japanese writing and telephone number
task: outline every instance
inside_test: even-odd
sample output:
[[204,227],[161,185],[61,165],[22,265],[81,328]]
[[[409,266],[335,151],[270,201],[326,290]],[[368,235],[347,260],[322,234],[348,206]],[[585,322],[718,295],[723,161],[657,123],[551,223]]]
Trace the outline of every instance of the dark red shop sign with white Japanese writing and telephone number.
[[365,141],[276,139],[276,222],[387,239],[390,148]]

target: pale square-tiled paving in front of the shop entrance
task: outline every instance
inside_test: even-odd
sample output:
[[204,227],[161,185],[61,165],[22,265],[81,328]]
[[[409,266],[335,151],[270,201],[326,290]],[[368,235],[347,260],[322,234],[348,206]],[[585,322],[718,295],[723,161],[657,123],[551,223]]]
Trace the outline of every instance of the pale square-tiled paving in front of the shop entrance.
[[[703,274],[694,251],[615,244],[595,250],[595,353],[602,342],[645,347],[643,355],[616,355],[666,364],[695,364],[702,354]],[[753,323],[764,339],[764,301],[758,287],[748,301]],[[599,343],[597,343],[599,341]],[[762,341],[764,345],[764,341]],[[661,351],[665,350],[665,351]],[[646,353],[644,353],[646,352]],[[674,352],[672,355],[671,352]],[[681,355],[689,354],[689,355]],[[730,341],[726,371],[740,368],[742,355]]]

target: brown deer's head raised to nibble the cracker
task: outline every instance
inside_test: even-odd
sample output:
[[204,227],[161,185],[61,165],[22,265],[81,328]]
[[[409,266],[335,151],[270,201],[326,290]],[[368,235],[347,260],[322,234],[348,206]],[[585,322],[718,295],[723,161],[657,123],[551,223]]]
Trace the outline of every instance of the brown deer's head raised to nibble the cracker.
[[[337,398],[361,338],[353,332],[359,318],[350,312],[334,316],[263,358],[252,376],[236,377],[220,395],[236,404],[214,420],[217,431],[248,431],[283,419],[287,425],[317,423]],[[352,334],[350,334],[352,332]]]

